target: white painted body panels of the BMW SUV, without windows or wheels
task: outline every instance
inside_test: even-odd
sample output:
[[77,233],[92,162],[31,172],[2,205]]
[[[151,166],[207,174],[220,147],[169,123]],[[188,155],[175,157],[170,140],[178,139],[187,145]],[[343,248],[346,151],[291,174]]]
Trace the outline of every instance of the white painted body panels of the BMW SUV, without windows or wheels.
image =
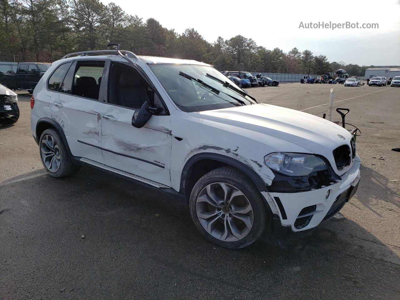
[[[134,128],[131,125],[134,112],[132,109],[47,90],[47,79],[60,64],[70,60],[85,60],[88,57],[90,56],[78,56],[54,62],[36,85],[35,105],[31,114],[32,134],[35,138],[39,138],[36,137],[38,120],[49,118],[60,124],[64,130],[73,156],[88,158],[153,180],[177,192],[180,191],[184,176],[182,170],[186,162],[196,154],[220,154],[237,160],[253,170],[267,189],[275,177],[264,163],[264,156],[267,154],[296,152],[324,156],[334,172],[342,177],[339,182],[308,192],[262,191],[272,213],[278,214],[281,224],[291,226],[293,231],[299,231],[294,228],[294,221],[302,208],[316,204],[317,210],[321,212],[316,213],[310,224],[300,230],[317,226],[332,206],[336,196],[348,190],[360,177],[358,156],[343,170],[336,168],[332,151],[344,144],[351,148],[352,136],[344,128],[305,112],[269,104],[183,112],[178,109],[148,66],[156,63],[209,66],[208,64],[149,56],[132,59],[151,80],[169,111],[169,115],[166,116],[152,116],[142,128]],[[116,55],[96,56],[96,59],[126,62],[124,58]],[[105,115],[116,120],[104,118]],[[100,148],[138,159],[119,156]],[[328,189],[332,192],[326,201],[325,194]],[[274,197],[281,199],[288,217],[286,220],[280,215]]]

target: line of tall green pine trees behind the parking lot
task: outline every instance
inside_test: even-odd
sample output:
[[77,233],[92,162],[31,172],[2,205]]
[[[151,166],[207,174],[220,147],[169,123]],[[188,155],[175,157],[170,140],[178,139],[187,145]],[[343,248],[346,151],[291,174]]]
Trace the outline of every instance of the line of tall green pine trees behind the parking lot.
[[371,67],[328,62],[324,55],[296,47],[288,53],[269,50],[241,35],[210,43],[194,28],[179,34],[154,18],[144,21],[99,0],[0,0],[0,18],[0,61],[53,62],[113,42],[138,55],[194,59],[218,70],[324,74],[344,68],[352,76],[364,76]]

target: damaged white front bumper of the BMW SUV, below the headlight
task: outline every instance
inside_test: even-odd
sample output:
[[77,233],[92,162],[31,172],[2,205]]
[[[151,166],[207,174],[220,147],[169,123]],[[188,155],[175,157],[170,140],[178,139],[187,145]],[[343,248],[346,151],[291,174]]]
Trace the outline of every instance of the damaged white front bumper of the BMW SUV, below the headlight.
[[307,192],[262,192],[272,213],[274,235],[285,238],[318,226],[334,216],[357,191],[360,158],[356,155],[350,170],[336,184]]

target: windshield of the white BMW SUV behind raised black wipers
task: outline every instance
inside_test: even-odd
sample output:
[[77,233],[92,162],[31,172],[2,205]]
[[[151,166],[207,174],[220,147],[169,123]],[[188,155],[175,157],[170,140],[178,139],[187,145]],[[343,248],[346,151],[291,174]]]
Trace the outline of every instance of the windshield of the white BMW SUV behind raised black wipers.
[[[156,75],[157,79],[160,80],[172,101],[174,101],[174,103],[184,112],[199,112],[203,110],[242,106],[242,103],[236,101],[232,97],[242,100],[245,105],[254,103],[248,97],[242,96],[234,90],[227,88],[222,83],[206,76],[208,73],[224,82],[229,80],[229,78],[210,66],[191,64],[153,64],[149,65],[149,67]],[[179,72],[200,79],[205,84],[208,84],[221,92],[213,92],[210,88],[204,86],[200,82],[181,76]],[[234,82],[230,80],[228,82],[240,90]]]

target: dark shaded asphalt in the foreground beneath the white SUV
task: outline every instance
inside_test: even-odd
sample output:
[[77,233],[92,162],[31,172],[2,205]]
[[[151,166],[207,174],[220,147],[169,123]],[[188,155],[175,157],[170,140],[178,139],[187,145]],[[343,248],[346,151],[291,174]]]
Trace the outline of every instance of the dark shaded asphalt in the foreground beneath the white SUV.
[[400,293],[399,257],[384,244],[376,257],[374,243],[345,236],[376,240],[346,218],[296,236],[285,248],[264,236],[228,250],[202,238],[186,204],[90,168],[0,189],[0,298],[395,299]]

